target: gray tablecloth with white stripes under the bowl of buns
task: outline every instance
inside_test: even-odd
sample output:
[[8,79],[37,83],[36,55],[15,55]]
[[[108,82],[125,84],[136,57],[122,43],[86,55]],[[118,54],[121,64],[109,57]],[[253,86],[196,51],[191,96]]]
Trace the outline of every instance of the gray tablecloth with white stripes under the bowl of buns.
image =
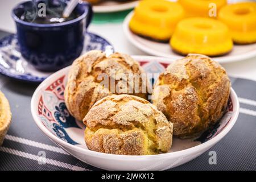
[[[7,35],[0,32],[0,38]],[[1,170],[100,170],[80,162],[55,146],[36,126],[30,111],[35,84],[0,75],[0,89],[8,98],[13,120],[0,147]],[[240,97],[240,115],[233,129],[209,151],[216,151],[217,164],[209,164],[209,151],[171,170],[256,170],[256,82],[232,78]],[[246,98],[246,102],[243,98]],[[47,163],[38,163],[40,151]]]

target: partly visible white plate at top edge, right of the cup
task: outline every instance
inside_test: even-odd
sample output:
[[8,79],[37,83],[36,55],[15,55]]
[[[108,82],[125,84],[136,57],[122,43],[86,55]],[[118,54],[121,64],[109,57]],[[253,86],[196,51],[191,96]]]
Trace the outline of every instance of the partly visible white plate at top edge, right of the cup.
[[123,11],[133,9],[138,1],[130,2],[117,2],[117,1],[104,1],[98,5],[93,6],[94,13],[110,13],[115,11]]

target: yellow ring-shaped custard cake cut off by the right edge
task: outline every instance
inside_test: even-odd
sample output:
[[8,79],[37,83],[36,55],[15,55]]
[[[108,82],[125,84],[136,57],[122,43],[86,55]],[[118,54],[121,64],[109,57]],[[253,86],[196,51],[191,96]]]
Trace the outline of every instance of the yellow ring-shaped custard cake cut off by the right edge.
[[218,13],[218,19],[229,27],[234,43],[256,42],[256,2],[226,5]]

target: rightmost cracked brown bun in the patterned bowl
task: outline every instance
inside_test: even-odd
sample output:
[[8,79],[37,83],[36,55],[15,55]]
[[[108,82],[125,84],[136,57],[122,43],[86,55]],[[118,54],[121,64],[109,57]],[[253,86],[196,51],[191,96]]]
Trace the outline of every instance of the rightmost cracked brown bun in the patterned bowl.
[[190,54],[170,64],[154,86],[153,104],[174,123],[174,136],[198,137],[222,117],[230,94],[224,68]]

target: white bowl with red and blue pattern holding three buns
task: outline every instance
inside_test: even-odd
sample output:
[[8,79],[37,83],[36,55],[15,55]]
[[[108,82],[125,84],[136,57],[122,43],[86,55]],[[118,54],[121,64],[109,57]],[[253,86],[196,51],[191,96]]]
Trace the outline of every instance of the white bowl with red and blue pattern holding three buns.
[[[163,72],[170,59],[153,56],[133,56],[147,73]],[[220,141],[237,120],[239,102],[231,90],[228,109],[213,129],[197,139],[174,138],[171,150],[158,155],[113,155],[90,151],[84,142],[85,126],[76,121],[64,103],[64,89],[70,67],[53,73],[35,90],[31,113],[39,129],[69,154],[92,166],[110,170],[162,170],[179,166],[203,154]],[[150,79],[152,81],[152,79]]]

